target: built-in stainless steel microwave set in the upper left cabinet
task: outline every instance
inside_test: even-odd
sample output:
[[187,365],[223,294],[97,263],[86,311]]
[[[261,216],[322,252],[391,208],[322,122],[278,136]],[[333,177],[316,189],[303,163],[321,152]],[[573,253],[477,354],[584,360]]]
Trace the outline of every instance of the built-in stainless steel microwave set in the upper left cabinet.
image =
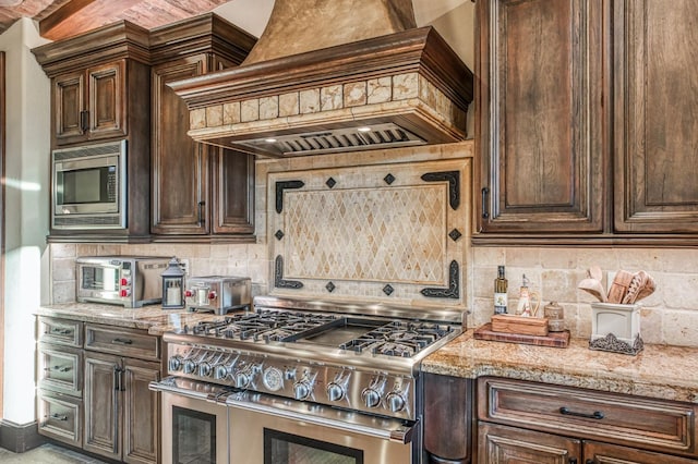
[[52,151],[53,229],[127,227],[127,141]]

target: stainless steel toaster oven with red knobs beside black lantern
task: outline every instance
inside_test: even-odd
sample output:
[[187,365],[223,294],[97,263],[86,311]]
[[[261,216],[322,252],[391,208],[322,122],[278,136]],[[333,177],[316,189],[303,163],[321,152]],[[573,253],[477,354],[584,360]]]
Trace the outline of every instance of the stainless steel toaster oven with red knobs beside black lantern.
[[83,256],[77,268],[76,300],[136,308],[163,300],[160,274],[169,257]]

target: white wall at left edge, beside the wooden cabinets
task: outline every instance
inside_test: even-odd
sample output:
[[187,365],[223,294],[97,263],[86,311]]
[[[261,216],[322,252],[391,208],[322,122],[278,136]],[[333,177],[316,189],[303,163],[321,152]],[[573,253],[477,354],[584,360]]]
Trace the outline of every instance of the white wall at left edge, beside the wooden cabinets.
[[27,19],[0,35],[7,70],[2,417],[15,424],[35,419],[33,313],[40,303],[39,284],[48,282],[41,260],[49,217],[50,87],[31,52],[45,42]]

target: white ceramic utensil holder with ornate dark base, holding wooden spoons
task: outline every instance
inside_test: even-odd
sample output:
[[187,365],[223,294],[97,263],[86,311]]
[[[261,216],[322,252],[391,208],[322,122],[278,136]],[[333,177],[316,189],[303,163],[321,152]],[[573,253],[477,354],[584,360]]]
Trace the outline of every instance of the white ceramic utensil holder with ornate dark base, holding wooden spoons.
[[640,305],[591,303],[590,349],[635,355],[642,345]]

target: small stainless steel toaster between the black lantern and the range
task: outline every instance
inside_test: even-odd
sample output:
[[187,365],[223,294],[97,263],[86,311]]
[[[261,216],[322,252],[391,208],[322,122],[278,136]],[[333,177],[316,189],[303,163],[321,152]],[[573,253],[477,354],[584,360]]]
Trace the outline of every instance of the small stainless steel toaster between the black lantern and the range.
[[190,310],[224,315],[250,308],[251,280],[248,277],[206,276],[186,279],[185,304]]

